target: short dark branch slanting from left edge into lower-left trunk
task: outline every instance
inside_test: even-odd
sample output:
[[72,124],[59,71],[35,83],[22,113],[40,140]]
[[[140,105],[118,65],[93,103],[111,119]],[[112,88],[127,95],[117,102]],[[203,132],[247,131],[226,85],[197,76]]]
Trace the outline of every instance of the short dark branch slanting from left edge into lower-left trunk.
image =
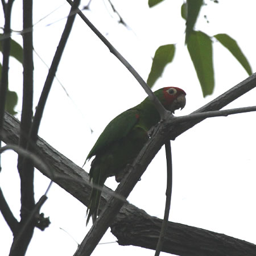
[[3,215],[3,218],[5,218],[7,225],[11,229],[11,232],[13,232],[13,235],[15,236],[15,234],[19,230],[19,222],[14,217],[13,212],[11,212],[9,205],[7,204],[5,197],[3,196],[3,192],[1,188],[0,188],[0,211]]

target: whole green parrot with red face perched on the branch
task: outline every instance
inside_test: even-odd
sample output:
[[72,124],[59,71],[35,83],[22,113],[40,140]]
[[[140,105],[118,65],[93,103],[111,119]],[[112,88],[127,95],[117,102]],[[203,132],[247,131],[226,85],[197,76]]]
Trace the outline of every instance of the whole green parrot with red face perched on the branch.
[[[180,88],[164,87],[154,93],[164,108],[172,113],[185,106],[186,93]],[[148,141],[148,131],[159,121],[158,110],[148,97],[139,105],[115,117],[105,127],[85,160],[86,163],[95,155],[89,172],[92,183],[103,186],[111,176],[115,176],[115,180],[120,182],[127,164],[133,163]],[[92,188],[86,225],[91,216],[93,222],[96,220],[100,198],[101,191]]]

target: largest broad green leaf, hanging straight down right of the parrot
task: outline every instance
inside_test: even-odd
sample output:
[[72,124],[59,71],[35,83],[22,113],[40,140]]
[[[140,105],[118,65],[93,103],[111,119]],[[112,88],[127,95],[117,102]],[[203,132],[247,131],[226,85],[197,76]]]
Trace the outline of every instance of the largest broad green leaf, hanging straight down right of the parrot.
[[212,94],[214,88],[212,40],[201,31],[193,31],[188,39],[187,47],[201,84],[203,96]]

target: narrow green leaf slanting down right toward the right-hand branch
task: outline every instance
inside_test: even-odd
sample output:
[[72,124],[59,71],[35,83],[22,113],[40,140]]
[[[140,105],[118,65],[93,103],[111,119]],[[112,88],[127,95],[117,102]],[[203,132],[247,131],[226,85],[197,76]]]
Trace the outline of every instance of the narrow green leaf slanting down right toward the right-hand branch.
[[240,62],[240,64],[246,70],[249,76],[253,73],[251,71],[251,66],[249,62],[247,61],[245,55],[242,53],[236,40],[230,38],[230,36],[227,34],[217,34],[214,35],[214,38],[216,38],[218,42],[222,44],[222,46],[226,47],[233,54],[233,56]]

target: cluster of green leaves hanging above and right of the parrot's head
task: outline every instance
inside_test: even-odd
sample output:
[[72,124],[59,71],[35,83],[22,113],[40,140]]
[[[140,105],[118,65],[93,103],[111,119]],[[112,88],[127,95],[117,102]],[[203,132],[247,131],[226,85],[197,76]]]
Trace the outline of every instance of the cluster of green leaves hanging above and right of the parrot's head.
[[[163,0],[149,0],[148,6],[153,7]],[[218,1],[214,1],[218,3]],[[197,77],[199,79],[203,96],[213,93],[214,89],[214,68],[213,68],[213,43],[214,40],[221,43],[236,60],[242,65],[247,74],[252,74],[249,61],[246,59],[236,40],[227,34],[209,36],[203,31],[195,30],[195,24],[200,15],[203,0],[187,0],[181,5],[181,17],[186,20],[185,44]],[[156,80],[162,76],[167,64],[174,60],[175,44],[167,44],[156,49],[152,61],[151,71],[148,75],[147,84],[152,87]]]

